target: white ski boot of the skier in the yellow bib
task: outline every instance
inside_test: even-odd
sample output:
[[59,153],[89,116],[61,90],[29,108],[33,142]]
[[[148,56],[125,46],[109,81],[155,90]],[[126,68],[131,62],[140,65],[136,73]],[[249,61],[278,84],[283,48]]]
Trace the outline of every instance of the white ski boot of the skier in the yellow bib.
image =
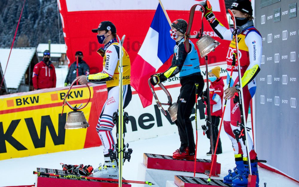
[[99,164],[98,168],[94,169],[93,177],[118,179],[118,167],[116,161],[111,162],[110,157],[104,157],[105,164]]

